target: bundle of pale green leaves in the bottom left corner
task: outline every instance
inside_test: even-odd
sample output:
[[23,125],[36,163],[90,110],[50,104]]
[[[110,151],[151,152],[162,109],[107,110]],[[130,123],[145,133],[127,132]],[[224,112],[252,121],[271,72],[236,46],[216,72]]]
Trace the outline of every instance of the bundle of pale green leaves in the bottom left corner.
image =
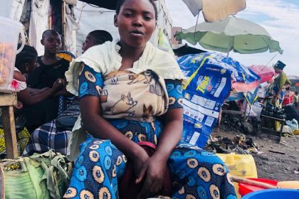
[[72,171],[72,163],[53,151],[4,159],[0,166],[4,176],[1,194],[5,194],[6,199],[62,198]]

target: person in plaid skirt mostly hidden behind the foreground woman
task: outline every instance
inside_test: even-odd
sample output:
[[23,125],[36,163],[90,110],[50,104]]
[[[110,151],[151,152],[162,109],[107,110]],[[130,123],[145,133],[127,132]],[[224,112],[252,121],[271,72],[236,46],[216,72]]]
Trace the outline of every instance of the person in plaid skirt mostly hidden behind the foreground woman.
[[[83,43],[83,50],[88,50],[93,45],[100,45],[106,41],[112,41],[110,33],[103,30],[92,31],[88,33]],[[23,156],[31,156],[34,153],[43,154],[51,149],[66,154],[68,139],[79,114],[79,102],[74,100],[62,114],[58,115],[57,119],[53,119],[33,131],[31,139],[23,151]]]

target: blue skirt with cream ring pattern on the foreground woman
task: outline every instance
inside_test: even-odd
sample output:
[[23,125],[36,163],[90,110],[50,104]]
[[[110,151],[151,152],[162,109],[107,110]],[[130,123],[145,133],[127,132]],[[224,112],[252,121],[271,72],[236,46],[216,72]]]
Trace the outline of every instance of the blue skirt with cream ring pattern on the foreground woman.
[[[157,144],[162,124],[126,119],[110,120],[132,141]],[[64,198],[118,198],[117,183],[125,173],[127,158],[110,140],[89,135],[80,146],[70,186]],[[168,161],[172,198],[236,198],[234,184],[224,162],[210,152],[180,141]]]

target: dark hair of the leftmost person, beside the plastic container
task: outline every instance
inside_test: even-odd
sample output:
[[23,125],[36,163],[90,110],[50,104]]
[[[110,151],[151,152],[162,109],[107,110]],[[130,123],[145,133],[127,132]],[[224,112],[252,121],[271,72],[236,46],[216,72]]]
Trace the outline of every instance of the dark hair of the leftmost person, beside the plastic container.
[[[18,48],[21,47],[21,44],[18,45]],[[36,60],[38,57],[38,53],[36,52],[36,48],[33,48],[30,45],[24,45],[23,50],[16,55],[16,68],[19,69],[23,63],[28,63],[32,60]]]

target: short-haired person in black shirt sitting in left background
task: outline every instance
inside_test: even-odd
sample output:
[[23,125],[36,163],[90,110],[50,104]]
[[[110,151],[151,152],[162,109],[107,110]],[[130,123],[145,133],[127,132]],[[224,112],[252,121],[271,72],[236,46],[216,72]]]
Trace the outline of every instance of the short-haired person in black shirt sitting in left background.
[[44,54],[38,57],[36,69],[28,75],[28,87],[44,89],[51,87],[56,80],[63,81],[64,86],[51,98],[23,107],[22,113],[27,118],[26,127],[30,132],[57,117],[59,95],[70,96],[65,90],[64,76],[69,62],[57,56],[61,49],[61,36],[54,30],[44,31],[41,44],[44,46]]

